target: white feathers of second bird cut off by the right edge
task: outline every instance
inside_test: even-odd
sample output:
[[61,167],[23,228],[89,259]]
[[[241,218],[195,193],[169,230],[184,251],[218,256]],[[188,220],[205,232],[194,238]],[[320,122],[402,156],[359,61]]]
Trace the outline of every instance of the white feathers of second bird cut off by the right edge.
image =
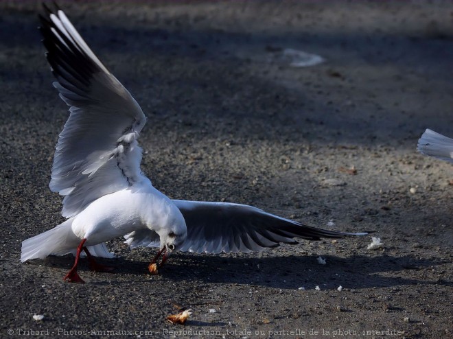
[[417,150],[421,154],[453,162],[453,139],[444,137],[433,130],[426,130],[421,135]]

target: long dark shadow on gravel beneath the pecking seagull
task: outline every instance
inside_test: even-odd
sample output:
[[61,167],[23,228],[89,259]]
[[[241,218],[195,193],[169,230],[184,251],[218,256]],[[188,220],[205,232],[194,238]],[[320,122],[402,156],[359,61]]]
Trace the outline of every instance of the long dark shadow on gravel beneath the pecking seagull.
[[[431,266],[448,264],[448,261],[417,259],[408,255],[403,257],[353,255],[346,258],[325,255],[323,258],[327,259],[327,265],[317,264],[316,256],[312,255],[250,258],[177,253],[159,270],[158,278],[174,283],[192,281],[257,285],[284,290],[297,290],[301,287],[308,290],[316,285],[321,286],[321,289],[333,289],[343,285],[357,290],[398,285],[453,286],[453,281],[448,279],[426,281],[405,277],[411,271],[426,270]],[[82,259],[80,275],[82,277],[90,275],[90,281],[95,285],[121,285],[131,282],[129,278],[124,280],[121,274],[142,275],[143,279],[149,276],[147,272],[149,263],[146,261],[130,261],[124,258],[98,259],[98,261],[104,265],[113,266],[115,270],[111,274],[96,272],[90,274],[87,263]],[[62,268],[62,275],[65,274],[65,270],[69,270],[72,263],[73,257],[70,256],[49,257],[45,260],[46,266]],[[43,264],[43,262],[32,261],[29,264],[30,269],[36,264]],[[108,282],[103,282],[102,279],[108,279]],[[134,281],[137,283],[135,279]]]

